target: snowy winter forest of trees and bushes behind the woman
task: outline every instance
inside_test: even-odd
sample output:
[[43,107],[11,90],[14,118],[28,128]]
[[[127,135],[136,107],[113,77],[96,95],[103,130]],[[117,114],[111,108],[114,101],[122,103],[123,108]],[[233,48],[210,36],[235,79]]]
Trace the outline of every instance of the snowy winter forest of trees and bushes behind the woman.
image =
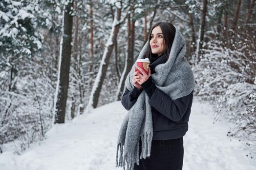
[[255,156],[255,3],[0,0],[0,155],[10,143],[22,154],[54,125],[120,101],[151,26],[167,21],[186,39],[194,97],[211,104],[213,122],[235,125],[226,136],[253,141]]

